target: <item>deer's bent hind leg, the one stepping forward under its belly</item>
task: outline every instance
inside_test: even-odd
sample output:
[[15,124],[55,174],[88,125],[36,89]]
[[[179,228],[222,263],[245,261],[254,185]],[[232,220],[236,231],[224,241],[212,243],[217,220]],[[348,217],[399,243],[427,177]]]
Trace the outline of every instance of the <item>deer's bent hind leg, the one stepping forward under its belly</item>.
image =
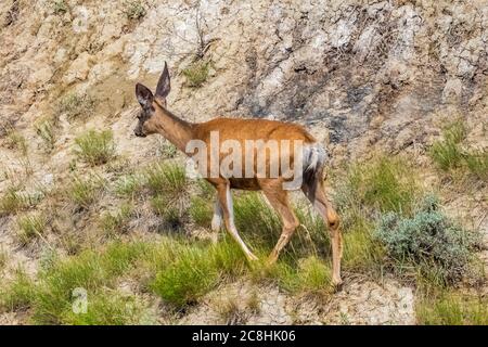
[[262,184],[261,189],[265,196],[268,198],[268,202],[277,210],[283,221],[283,229],[280,239],[268,257],[268,264],[274,264],[278,260],[281,250],[292,239],[293,233],[299,226],[299,221],[290,205],[287,191],[282,189],[282,182],[279,182],[279,185],[278,183],[271,185]]

